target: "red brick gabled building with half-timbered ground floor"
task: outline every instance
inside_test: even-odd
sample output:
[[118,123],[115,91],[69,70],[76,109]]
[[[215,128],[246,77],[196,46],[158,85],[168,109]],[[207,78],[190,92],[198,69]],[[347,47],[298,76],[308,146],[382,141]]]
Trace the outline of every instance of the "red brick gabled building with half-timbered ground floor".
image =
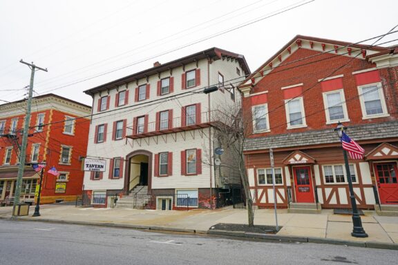
[[366,150],[350,159],[359,208],[398,204],[398,48],[296,36],[239,89],[253,117],[245,157],[256,205],[350,208],[339,137]]

